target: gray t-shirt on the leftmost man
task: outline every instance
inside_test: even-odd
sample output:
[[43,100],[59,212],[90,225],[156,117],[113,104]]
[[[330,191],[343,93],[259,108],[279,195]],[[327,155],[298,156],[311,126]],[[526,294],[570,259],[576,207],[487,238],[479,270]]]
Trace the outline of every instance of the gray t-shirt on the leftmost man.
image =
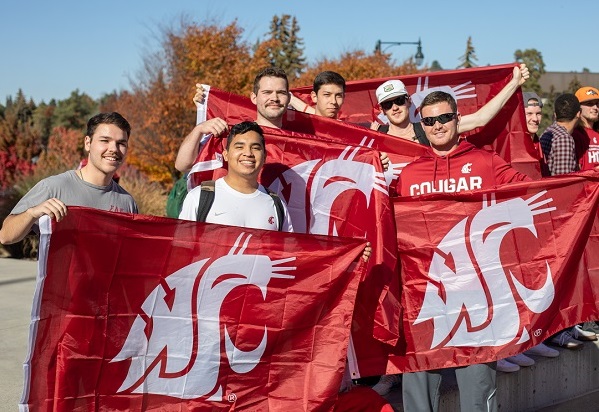
[[51,198],[67,206],[85,206],[109,212],[138,213],[137,204],[125,189],[111,180],[108,186],[96,186],[81,180],[74,170],[40,180],[19,200],[10,212],[18,215]]

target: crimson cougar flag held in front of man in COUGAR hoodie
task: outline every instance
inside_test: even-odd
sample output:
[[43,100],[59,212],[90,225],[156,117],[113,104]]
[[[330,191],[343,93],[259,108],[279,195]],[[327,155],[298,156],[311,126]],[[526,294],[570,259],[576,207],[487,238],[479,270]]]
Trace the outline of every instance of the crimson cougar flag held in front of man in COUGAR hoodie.
[[405,341],[389,372],[488,362],[599,318],[599,174],[394,199]]

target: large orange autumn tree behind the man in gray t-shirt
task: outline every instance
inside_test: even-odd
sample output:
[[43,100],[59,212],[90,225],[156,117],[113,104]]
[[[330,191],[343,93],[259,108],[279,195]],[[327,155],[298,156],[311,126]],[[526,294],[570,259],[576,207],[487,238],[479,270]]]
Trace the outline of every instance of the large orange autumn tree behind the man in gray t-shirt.
[[177,150],[195,124],[195,84],[249,95],[255,73],[268,65],[250,54],[242,33],[236,22],[221,27],[182,19],[180,27],[162,29],[161,48],[145,56],[131,91],[104,96],[102,109],[131,123],[129,164],[172,185]]

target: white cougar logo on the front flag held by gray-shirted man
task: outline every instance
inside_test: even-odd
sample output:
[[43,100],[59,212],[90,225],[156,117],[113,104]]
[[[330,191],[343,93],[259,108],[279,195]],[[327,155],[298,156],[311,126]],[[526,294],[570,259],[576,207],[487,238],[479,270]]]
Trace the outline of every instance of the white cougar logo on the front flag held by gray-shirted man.
[[[203,275],[200,272],[209,259],[178,270],[150,293],[142,304],[143,313],[136,317],[121,351],[112,359],[131,359],[119,392],[131,390],[181,399],[212,395],[210,400],[222,399],[223,388],[217,381],[223,300],[242,285],[258,287],[266,299],[270,280],[293,279],[279,272],[296,269],[277,266],[294,257],[272,261],[268,256],[243,254],[251,238],[247,236],[241,245],[244,236],[242,233],[229,254],[216,259]],[[226,327],[224,331],[231,369],[236,373],[254,369],[266,349],[266,326],[262,341],[250,351],[237,348]]]

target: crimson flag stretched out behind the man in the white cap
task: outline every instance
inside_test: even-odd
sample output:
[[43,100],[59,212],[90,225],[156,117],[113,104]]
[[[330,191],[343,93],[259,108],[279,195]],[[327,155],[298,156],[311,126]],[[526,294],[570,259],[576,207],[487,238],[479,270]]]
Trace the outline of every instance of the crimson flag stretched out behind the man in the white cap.
[[[434,90],[452,94],[458,102],[458,111],[462,115],[474,113],[510,81],[514,66],[514,64],[505,64],[348,81],[339,118],[353,123],[370,123],[377,119],[386,123],[384,115],[381,117],[375,90],[391,79],[399,79],[406,85],[412,99],[410,107],[412,122],[420,121],[418,107],[424,97]],[[297,87],[291,91],[306,103],[312,104],[310,98],[312,86]],[[492,148],[520,172],[531,178],[541,177],[538,154],[526,129],[526,116],[520,89],[486,126],[464,135],[469,135],[468,141],[478,147]]]

